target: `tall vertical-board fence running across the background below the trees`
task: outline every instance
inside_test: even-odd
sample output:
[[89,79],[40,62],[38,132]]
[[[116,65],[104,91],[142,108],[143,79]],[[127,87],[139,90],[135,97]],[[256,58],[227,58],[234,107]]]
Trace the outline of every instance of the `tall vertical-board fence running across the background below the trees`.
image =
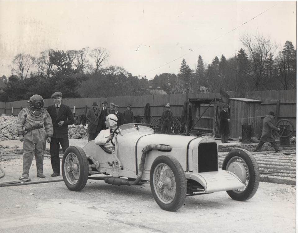
[[[237,97],[235,93],[228,92],[230,98]],[[257,99],[263,101],[261,103],[261,116],[264,117],[268,112],[273,111],[279,112],[277,119],[287,119],[294,124],[296,134],[296,90],[281,90],[281,91],[253,91],[246,92],[245,98]],[[241,96],[243,97],[243,96]],[[142,95],[142,96],[113,96],[107,98],[84,98],[84,99],[67,99],[63,98],[62,103],[70,106],[72,111],[75,108],[75,115],[85,114],[89,108],[92,108],[93,102],[97,102],[101,106],[104,100],[108,103],[113,102],[120,106],[119,111],[123,112],[127,105],[132,106],[134,115],[144,116],[144,108],[147,103],[150,104],[150,116],[160,117],[164,111],[164,106],[167,103],[171,105],[171,111],[174,116],[181,116],[183,103],[189,98],[201,98],[201,99],[214,99],[220,98],[219,93],[201,93],[201,94],[173,94],[173,95]],[[45,99],[44,107],[54,104],[52,99]],[[27,107],[27,100],[14,101],[14,102],[0,102],[0,114],[7,114],[17,116],[21,108]],[[200,111],[203,113],[207,108],[208,104],[201,104]],[[218,106],[218,103],[217,103]],[[277,111],[279,109],[279,111]],[[217,113],[221,109],[217,109]],[[192,116],[193,120],[196,120],[200,116]],[[214,108],[211,104],[210,108],[205,112],[204,116],[201,117],[194,129],[211,131],[214,128]],[[261,128],[261,125],[255,127]],[[241,136],[241,135],[239,135]]]

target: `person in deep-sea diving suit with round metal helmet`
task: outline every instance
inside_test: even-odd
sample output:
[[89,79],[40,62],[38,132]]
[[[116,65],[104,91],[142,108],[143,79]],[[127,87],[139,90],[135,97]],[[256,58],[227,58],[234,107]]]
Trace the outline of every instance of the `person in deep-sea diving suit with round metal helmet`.
[[29,107],[23,108],[17,121],[19,140],[23,142],[23,175],[20,180],[29,177],[29,169],[35,155],[37,177],[45,178],[43,174],[43,152],[46,142],[51,142],[53,136],[52,119],[43,109],[44,100],[41,95],[32,95],[28,101]]

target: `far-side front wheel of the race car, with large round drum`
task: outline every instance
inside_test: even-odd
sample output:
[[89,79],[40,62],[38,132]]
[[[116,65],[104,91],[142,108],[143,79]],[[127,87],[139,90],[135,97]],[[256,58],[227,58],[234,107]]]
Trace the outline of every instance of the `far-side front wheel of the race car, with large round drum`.
[[242,189],[227,191],[231,198],[245,201],[255,195],[259,187],[260,173],[257,162],[250,152],[244,149],[229,152],[224,159],[223,170],[236,174],[245,185]]

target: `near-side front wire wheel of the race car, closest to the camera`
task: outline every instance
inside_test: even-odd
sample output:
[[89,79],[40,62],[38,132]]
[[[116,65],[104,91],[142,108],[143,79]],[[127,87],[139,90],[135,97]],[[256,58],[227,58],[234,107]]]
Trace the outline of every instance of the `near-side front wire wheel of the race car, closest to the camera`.
[[176,211],[185,202],[186,178],[180,163],[173,156],[157,157],[150,170],[150,187],[161,209]]

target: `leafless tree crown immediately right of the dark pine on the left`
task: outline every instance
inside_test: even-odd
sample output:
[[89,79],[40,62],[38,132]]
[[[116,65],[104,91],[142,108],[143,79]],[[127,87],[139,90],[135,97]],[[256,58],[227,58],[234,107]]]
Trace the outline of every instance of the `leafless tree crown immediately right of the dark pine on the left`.
[[91,64],[87,59],[87,55],[89,52],[89,47],[83,48],[81,50],[70,50],[67,51],[67,55],[71,61],[71,63],[79,70],[79,72],[84,74],[84,71],[88,69]]

